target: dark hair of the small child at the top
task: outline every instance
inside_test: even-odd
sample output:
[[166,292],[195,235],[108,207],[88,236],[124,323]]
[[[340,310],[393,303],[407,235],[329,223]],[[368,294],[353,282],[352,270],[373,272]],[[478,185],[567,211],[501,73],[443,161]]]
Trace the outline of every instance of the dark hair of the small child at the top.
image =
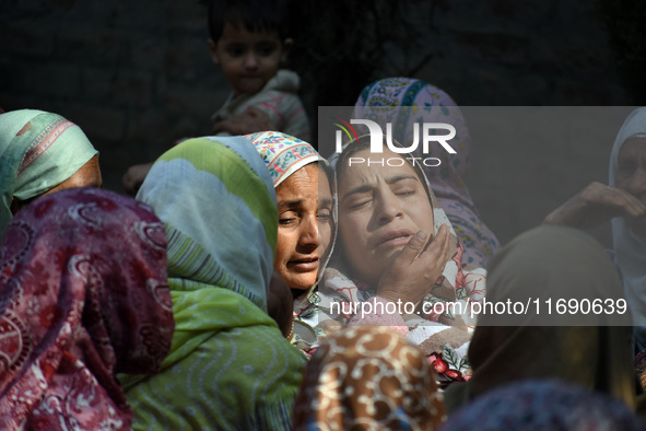
[[244,25],[248,32],[277,31],[281,42],[290,36],[286,0],[210,0],[209,34],[222,37],[225,23]]

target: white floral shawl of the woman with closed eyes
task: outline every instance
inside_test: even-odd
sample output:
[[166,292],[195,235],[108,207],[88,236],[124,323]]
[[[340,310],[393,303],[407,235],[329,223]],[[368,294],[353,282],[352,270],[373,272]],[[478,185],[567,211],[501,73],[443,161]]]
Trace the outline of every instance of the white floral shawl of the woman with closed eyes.
[[[360,140],[362,137],[360,137]],[[351,141],[345,144],[355,144]],[[343,154],[343,153],[342,153]],[[343,158],[343,155],[341,156]],[[332,164],[338,170],[339,161],[333,160]],[[318,327],[325,331],[336,330],[339,325],[385,325],[395,326],[399,330],[407,333],[409,341],[419,347],[430,361],[436,361],[436,371],[442,380],[454,381],[463,380],[463,376],[470,373],[470,366],[466,360],[466,351],[470,335],[466,326],[472,327],[474,321],[467,312],[469,303],[480,302],[485,293],[486,271],[483,268],[467,265],[462,261],[463,247],[457,240],[451,223],[446,213],[437,202],[431,188],[426,175],[415,164],[413,170],[426,188],[426,195],[431,201],[434,217],[434,235],[442,225],[447,225],[450,232],[449,258],[444,266],[441,277],[436,281],[434,291],[441,292],[441,295],[428,294],[423,302],[435,303],[459,303],[456,308],[445,307],[441,314],[411,314],[411,315],[373,315],[367,321],[361,321],[359,313],[344,313],[343,304],[350,308],[350,304],[363,302],[384,301],[376,296],[376,291],[365,286],[361,280],[352,280],[348,275],[345,264],[342,261],[341,249],[338,247],[343,238],[339,237],[330,264],[325,269],[321,281],[319,282],[319,310]],[[338,200],[338,197],[334,197]],[[336,305],[337,304],[337,305]],[[338,306],[338,304],[341,304]],[[334,305],[334,306],[333,306]],[[334,310],[336,308],[336,310]],[[436,310],[441,310],[438,307]],[[338,313],[337,310],[341,310]],[[455,314],[455,310],[462,310],[462,314]]]

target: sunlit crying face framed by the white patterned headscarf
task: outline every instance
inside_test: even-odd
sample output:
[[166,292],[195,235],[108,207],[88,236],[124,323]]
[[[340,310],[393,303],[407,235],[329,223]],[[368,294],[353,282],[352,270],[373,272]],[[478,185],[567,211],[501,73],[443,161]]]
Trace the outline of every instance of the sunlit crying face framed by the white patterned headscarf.
[[273,268],[291,289],[307,290],[319,265],[318,167],[308,164],[277,188],[278,244]]

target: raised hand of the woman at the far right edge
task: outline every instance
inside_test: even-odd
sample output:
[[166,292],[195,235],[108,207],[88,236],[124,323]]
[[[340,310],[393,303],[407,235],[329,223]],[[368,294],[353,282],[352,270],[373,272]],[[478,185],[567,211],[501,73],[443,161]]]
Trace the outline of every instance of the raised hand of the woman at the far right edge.
[[622,189],[595,182],[552,211],[543,224],[591,229],[615,217],[646,217],[646,206]]

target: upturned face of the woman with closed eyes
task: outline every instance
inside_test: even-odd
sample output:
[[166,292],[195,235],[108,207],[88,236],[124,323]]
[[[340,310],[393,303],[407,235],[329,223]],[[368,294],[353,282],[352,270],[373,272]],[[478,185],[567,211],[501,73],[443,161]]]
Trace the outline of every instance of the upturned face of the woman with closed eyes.
[[433,208],[420,177],[399,154],[390,150],[371,154],[366,149],[353,156],[401,164],[353,163],[338,178],[339,234],[345,258],[354,276],[376,286],[392,255],[418,231],[433,236]]

